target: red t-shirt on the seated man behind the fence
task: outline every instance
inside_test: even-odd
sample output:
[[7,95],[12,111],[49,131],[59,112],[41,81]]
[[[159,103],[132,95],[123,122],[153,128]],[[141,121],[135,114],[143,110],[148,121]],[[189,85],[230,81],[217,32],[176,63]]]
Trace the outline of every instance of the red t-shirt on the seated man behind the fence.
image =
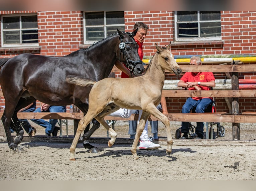
[[[215,78],[213,76],[212,72],[199,72],[197,74],[193,72],[186,72],[181,79],[183,82],[211,82],[215,81]],[[199,86],[202,90],[210,90],[210,87],[208,86]],[[188,88],[188,90],[196,90],[194,87],[193,88]],[[210,98],[213,99],[212,97],[192,97],[195,100],[199,100],[201,98]]]

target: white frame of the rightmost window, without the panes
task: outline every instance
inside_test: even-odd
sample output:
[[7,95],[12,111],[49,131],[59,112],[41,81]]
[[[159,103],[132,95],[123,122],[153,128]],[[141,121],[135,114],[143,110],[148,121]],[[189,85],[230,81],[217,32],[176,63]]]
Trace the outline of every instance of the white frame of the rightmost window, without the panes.
[[[221,22],[220,20],[209,20],[209,21],[201,21],[200,20],[200,11],[197,11],[197,21],[191,22],[177,22],[177,11],[174,11],[174,31],[175,31],[175,41],[182,42],[182,41],[219,41],[222,40],[222,37],[200,37],[200,23],[209,23],[209,22]],[[182,38],[178,37],[178,24],[179,23],[198,23],[198,35],[199,37],[189,37],[189,38]],[[221,26],[220,26],[221,27]]]

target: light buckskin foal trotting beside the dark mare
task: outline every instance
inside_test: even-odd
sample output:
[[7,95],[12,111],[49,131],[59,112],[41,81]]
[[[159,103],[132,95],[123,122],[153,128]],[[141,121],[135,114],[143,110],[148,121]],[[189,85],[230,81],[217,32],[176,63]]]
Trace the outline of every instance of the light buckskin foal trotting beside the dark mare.
[[162,121],[166,128],[166,153],[170,155],[173,143],[170,132],[170,123],[168,118],[156,108],[156,105],[158,105],[161,100],[165,70],[178,76],[181,73],[181,68],[175,62],[174,56],[168,50],[170,44],[166,48],[160,48],[157,45],[155,46],[157,52],[153,56],[150,65],[143,76],[129,79],[106,78],[98,82],[92,81],[91,79],[68,76],[67,81],[69,83],[77,84],[84,88],[93,85],[89,95],[88,112],[80,120],[77,133],[70,147],[70,160],[76,160],[75,149],[80,134],[93,118],[98,120],[109,131],[111,139],[108,141],[108,146],[111,147],[114,144],[117,134],[104,120],[104,117],[120,107],[143,110],[131,148],[134,159],[139,158],[136,148],[139,142],[139,137],[150,114]]

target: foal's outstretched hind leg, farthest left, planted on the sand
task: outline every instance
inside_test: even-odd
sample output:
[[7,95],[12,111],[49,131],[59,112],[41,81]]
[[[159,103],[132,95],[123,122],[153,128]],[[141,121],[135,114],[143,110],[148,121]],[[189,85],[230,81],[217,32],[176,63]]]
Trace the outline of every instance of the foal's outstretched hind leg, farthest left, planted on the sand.
[[70,160],[76,160],[75,158],[75,149],[77,146],[77,142],[79,140],[79,137],[81,133],[85,130],[85,127],[91,122],[91,120],[94,118],[94,114],[90,114],[90,112],[87,112],[87,114],[79,121],[77,133],[73,139],[72,145],[70,147]]

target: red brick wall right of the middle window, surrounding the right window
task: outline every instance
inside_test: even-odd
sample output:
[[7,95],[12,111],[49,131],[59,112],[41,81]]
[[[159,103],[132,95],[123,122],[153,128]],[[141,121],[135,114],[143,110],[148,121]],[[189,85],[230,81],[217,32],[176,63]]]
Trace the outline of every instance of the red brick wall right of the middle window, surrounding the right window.
[[[155,43],[160,46],[174,42],[173,11],[125,11],[125,26],[132,31],[135,22],[149,26],[144,40],[145,56],[153,56]],[[256,11],[221,11],[222,41],[172,43],[177,56],[256,54]]]

